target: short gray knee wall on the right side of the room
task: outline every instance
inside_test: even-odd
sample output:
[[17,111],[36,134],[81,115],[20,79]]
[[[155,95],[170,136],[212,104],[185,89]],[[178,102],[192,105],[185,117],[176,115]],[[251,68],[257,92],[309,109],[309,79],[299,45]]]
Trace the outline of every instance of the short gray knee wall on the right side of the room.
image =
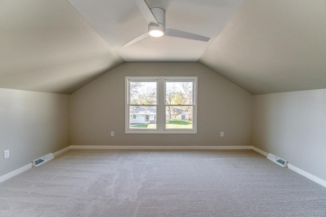
[[326,180],[326,89],[253,98],[253,146]]

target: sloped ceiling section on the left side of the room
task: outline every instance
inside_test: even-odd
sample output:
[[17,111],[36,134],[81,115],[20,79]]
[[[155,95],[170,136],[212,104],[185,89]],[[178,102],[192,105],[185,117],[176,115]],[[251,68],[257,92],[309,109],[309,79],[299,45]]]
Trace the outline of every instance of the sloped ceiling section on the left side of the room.
[[71,94],[124,62],[66,0],[0,1],[0,87]]

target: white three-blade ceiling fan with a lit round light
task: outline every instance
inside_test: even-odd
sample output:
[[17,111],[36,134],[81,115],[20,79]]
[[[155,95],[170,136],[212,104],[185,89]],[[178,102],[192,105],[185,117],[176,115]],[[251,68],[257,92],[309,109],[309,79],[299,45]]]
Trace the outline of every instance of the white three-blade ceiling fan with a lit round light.
[[148,23],[148,32],[143,33],[142,35],[132,39],[131,41],[122,45],[123,47],[129,46],[135,42],[145,39],[148,36],[161,37],[166,35],[166,36],[193,39],[193,40],[199,40],[205,42],[209,41],[210,38],[205,36],[200,36],[193,33],[187,33],[173,28],[165,28],[165,10],[161,8],[150,9],[147,6],[145,0],[134,0],[134,1]]

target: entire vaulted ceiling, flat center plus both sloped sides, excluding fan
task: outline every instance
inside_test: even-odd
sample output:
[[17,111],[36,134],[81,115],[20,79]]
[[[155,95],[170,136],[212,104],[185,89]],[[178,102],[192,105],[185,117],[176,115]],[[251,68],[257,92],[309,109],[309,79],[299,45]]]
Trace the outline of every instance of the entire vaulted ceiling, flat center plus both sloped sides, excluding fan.
[[146,0],[210,37],[122,45],[147,31],[134,1],[0,1],[0,88],[71,94],[124,61],[199,61],[253,95],[326,88],[323,0]]

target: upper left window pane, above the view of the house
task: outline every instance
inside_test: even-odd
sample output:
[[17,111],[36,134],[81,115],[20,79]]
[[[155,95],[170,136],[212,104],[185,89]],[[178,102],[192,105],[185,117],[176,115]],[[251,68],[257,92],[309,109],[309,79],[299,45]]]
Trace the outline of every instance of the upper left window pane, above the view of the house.
[[130,104],[156,104],[156,82],[130,81]]

